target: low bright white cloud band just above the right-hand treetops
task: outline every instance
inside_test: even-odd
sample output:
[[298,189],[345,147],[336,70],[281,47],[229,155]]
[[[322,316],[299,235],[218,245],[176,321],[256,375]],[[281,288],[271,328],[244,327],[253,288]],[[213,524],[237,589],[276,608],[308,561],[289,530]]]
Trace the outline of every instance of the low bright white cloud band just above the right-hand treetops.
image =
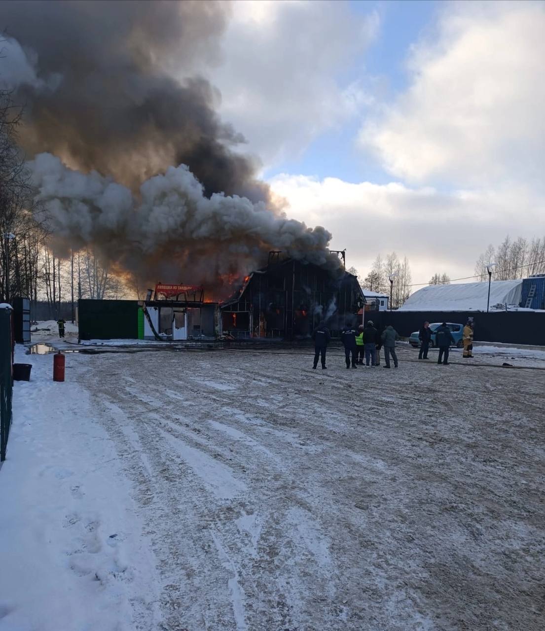
[[349,266],[361,273],[376,254],[395,250],[409,258],[414,282],[435,272],[469,276],[489,243],[508,233],[545,235],[544,199],[524,187],[444,194],[398,182],[350,184],[286,174],[270,184],[287,199],[289,216],[325,226],[333,233],[332,247],[346,247]]

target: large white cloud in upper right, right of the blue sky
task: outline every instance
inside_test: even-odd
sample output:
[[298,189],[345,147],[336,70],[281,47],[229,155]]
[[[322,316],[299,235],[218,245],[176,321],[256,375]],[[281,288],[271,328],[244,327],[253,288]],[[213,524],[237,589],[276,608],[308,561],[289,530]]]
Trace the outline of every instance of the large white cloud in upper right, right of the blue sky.
[[416,44],[411,83],[360,142],[410,182],[541,182],[545,4],[447,4]]

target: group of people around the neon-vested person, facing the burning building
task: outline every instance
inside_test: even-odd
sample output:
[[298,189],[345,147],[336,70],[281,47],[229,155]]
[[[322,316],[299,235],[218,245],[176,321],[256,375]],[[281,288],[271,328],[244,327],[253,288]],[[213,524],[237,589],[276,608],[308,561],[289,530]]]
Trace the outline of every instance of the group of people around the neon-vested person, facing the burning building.
[[[318,360],[321,359],[322,369],[326,369],[325,355],[328,342],[331,339],[328,328],[321,322],[312,334],[314,340],[314,365],[318,367]],[[350,322],[342,329],[340,339],[344,346],[346,367],[357,368],[358,364],[366,366],[380,366],[380,349],[384,348],[384,368],[390,368],[390,356],[393,360],[394,368],[397,368],[397,355],[395,354],[395,342],[399,339],[397,331],[388,325],[382,333],[374,327],[373,321],[369,320],[367,326],[362,324],[353,327]]]

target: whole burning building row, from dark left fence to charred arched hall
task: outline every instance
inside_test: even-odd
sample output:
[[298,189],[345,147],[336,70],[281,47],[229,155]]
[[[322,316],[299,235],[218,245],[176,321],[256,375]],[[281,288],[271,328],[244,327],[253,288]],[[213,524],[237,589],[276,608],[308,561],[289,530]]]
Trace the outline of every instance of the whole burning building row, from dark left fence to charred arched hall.
[[[332,252],[342,258],[344,252]],[[263,269],[246,276],[225,302],[208,302],[195,285],[158,283],[146,300],[80,300],[80,339],[308,338],[325,322],[333,337],[361,321],[366,304],[344,264],[321,267],[270,252]]]

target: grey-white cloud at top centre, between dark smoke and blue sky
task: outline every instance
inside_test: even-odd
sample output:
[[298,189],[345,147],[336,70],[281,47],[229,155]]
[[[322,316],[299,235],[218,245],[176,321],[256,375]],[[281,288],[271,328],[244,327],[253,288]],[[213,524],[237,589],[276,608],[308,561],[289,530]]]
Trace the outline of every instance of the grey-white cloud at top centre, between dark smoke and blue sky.
[[203,72],[222,93],[222,118],[248,139],[243,149],[272,165],[356,114],[361,91],[338,77],[377,30],[378,14],[345,2],[234,3],[224,59]]

